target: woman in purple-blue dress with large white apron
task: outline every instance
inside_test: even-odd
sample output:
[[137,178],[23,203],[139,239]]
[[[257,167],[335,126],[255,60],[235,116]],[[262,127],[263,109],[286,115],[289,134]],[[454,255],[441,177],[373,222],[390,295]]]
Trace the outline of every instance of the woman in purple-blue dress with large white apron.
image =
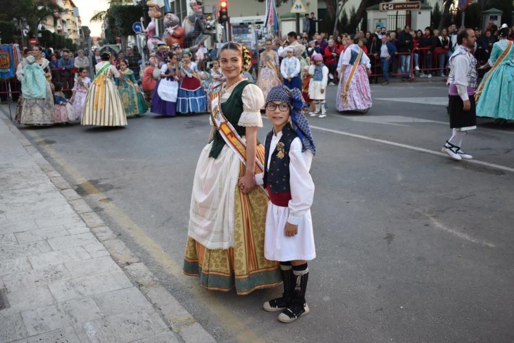
[[178,81],[180,80],[180,66],[177,55],[170,52],[169,62],[160,69],[160,80],[152,95],[152,108],[150,112],[161,116],[176,116],[175,106],[177,104]]

